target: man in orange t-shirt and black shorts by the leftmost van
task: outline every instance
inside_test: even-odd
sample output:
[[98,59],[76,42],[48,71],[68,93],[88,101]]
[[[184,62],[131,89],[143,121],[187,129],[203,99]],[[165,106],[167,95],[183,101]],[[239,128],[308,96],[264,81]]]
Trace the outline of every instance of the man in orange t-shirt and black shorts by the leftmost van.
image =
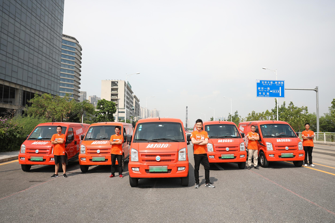
[[62,163],[63,167],[63,177],[67,178],[66,176],[66,155],[65,155],[65,135],[62,134],[62,126],[57,126],[57,134],[54,134],[51,137],[51,144],[54,145],[54,157],[55,157],[55,173],[51,176],[51,178],[58,177],[58,170],[59,170],[59,162]]

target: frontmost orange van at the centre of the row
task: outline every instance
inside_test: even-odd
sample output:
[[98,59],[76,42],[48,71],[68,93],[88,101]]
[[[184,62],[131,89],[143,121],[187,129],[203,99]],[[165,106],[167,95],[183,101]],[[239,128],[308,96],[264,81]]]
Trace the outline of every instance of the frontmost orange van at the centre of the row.
[[141,178],[181,178],[189,184],[189,161],[183,122],[175,118],[147,118],[136,123],[128,163],[129,183]]

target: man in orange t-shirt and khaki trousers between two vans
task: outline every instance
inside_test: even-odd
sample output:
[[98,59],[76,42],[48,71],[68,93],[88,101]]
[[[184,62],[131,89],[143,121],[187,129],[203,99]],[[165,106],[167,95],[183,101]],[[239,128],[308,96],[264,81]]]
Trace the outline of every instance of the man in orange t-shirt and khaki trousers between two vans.
[[254,125],[250,126],[251,132],[248,132],[248,170],[251,169],[251,159],[254,156],[254,168],[259,169],[258,164],[258,140],[259,134],[255,132],[256,127]]

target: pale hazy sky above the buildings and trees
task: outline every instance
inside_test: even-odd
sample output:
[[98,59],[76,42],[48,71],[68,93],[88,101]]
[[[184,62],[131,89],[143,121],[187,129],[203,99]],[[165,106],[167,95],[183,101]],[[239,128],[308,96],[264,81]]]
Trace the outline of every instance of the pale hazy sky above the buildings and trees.
[[[63,33],[81,44],[81,91],[101,94],[101,80],[128,81],[145,107],[190,120],[275,106],[256,98],[256,79],[286,88],[319,86],[320,115],[335,98],[335,1],[65,0]],[[286,90],[316,111],[314,91]]]

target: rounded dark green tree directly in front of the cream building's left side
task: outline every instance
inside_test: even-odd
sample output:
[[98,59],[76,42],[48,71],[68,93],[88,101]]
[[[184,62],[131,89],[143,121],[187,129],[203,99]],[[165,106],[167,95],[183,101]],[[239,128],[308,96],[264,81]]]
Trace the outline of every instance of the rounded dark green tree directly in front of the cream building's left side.
[[115,103],[105,99],[99,100],[96,105],[95,117],[97,122],[114,122],[116,112]]

